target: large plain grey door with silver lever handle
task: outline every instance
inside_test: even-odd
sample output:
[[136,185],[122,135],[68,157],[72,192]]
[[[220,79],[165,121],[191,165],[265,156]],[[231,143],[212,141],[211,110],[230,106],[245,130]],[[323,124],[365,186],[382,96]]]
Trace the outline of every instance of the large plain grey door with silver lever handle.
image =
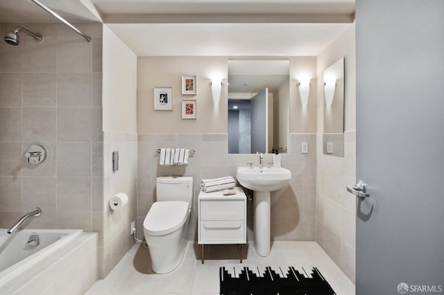
[[356,0],[359,295],[444,293],[443,15]]

